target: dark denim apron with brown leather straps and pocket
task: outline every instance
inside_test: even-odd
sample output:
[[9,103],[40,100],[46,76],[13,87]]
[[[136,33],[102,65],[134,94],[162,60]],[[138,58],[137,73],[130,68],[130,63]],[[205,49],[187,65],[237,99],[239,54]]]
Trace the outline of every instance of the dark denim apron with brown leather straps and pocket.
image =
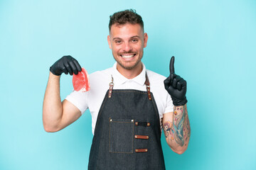
[[89,170],[165,169],[159,113],[146,76],[146,91],[110,89],[102,102]]

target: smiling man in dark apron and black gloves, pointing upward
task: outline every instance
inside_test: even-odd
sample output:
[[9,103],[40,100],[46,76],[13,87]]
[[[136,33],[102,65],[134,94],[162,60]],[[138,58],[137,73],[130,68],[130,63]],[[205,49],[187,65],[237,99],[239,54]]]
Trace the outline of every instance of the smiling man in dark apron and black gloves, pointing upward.
[[43,126],[56,132],[89,108],[94,137],[88,169],[165,169],[161,123],[174,152],[188,147],[186,81],[174,73],[174,57],[167,79],[146,69],[141,60],[148,35],[135,11],[114,13],[109,29],[107,41],[117,62],[90,74],[90,91],[73,91],[61,102],[60,74],[78,74],[81,67],[71,56],[50,67]]

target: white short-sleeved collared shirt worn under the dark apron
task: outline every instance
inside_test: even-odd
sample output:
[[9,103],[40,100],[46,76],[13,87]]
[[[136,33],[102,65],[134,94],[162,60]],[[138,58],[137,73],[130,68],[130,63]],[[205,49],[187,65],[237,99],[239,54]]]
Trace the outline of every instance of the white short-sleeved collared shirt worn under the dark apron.
[[[150,91],[152,92],[156,101],[156,106],[159,111],[160,125],[161,119],[164,113],[174,111],[174,105],[171,101],[171,96],[164,89],[164,79],[166,77],[161,76],[155,72],[146,69],[143,65],[142,72],[133,79],[127,79],[117,71],[117,62],[114,66],[102,71],[94,72],[89,75],[90,91],[73,91],[65,99],[73,103],[81,113],[85,113],[89,108],[92,115],[92,134],[94,135],[95,125],[97,121],[97,115],[100,111],[100,106],[105,97],[107,90],[110,88],[110,82],[112,77],[114,79],[113,89],[134,89],[139,91],[146,91],[145,74],[149,77]],[[112,77],[111,77],[112,75]],[[162,127],[162,125],[161,125]]]

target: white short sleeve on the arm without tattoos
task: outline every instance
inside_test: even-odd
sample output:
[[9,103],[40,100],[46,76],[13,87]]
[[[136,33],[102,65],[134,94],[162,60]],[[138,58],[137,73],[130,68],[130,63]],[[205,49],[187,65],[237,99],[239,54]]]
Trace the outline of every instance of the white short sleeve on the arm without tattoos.
[[88,91],[73,91],[65,99],[70,101],[70,103],[73,103],[73,105],[75,105],[82,114],[85,113],[88,108]]

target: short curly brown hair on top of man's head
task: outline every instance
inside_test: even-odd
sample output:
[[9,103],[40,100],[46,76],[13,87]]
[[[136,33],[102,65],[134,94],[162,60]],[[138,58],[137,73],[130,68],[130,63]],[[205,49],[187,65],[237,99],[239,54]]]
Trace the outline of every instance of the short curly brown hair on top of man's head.
[[138,13],[134,9],[127,9],[124,11],[119,11],[110,16],[109,30],[111,30],[111,26],[117,23],[117,25],[123,25],[125,23],[132,23],[139,25],[144,30],[144,23],[142,21],[142,16],[139,16]]

